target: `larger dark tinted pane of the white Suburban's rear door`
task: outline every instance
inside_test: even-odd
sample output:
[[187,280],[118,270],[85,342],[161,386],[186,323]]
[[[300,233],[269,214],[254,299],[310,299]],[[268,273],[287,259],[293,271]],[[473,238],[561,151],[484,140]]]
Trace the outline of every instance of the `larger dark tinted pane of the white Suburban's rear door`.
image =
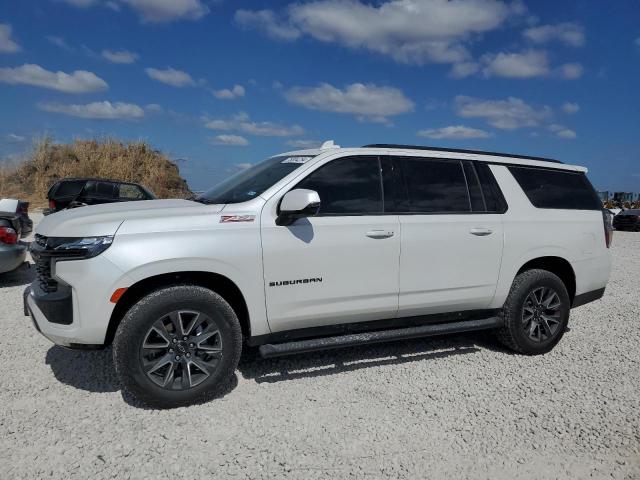
[[462,162],[419,157],[398,158],[406,198],[400,211],[470,212],[471,199]]

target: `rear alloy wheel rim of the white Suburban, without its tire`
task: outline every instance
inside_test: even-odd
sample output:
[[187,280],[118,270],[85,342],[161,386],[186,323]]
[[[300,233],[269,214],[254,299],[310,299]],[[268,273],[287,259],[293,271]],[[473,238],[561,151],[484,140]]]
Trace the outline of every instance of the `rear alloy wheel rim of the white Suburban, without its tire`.
[[561,323],[562,302],[550,287],[534,289],[524,301],[522,328],[529,339],[540,343],[552,338]]

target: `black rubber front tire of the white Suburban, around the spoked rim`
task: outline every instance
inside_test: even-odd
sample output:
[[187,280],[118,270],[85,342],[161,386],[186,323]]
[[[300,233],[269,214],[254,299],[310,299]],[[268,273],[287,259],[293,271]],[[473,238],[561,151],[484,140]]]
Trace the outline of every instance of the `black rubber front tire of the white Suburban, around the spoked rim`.
[[[162,321],[169,319],[167,325],[171,328],[173,320],[169,318],[170,316],[173,315],[171,318],[175,318],[175,314],[178,313],[178,321],[183,323],[184,320],[181,314],[194,312],[201,313],[204,318],[211,320],[214,324],[213,328],[217,330],[215,338],[217,339],[216,341],[220,342],[220,348],[219,351],[216,351],[215,360],[211,360],[211,362],[215,363],[215,366],[210,367],[209,364],[204,363],[207,366],[205,370],[207,370],[208,376],[201,380],[201,383],[190,386],[194,369],[196,372],[200,372],[200,377],[205,375],[197,366],[193,367],[195,365],[194,362],[190,365],[181,363],[187,361],[187,354],[184,353],[184,350],[181,350],[183,353],[181,362],[171,360],[173,366],[167,362],[166,365],[168,366],[165,368],[167,370],[171,369],[173,372],[180,370],[182,372],[181,377],[188,376],[188,385],[186,387],[182,385],[181,382],[178,382],[178,378],[174,379],[174,373],[171,373],[171,386],[163,387],[152,380],[153,378],[158,378],[156,377],[157,373],[153,375],[149,373],[148,365],[155,360],[147,362],[145,357],[145,354],[151,348],[148,345],[150,335],[154,330],[152,327],[158,321],[161,321],[159,319],[163,319]],[[195,327],[193,327],[193,331],[196,331]],[[162,339],[167,333],[171,333],[166,328],[163,332]],[[177,331],[174,331],[171,336],[174,337],[176,334],[180,337]],[[194,336],[193,338],[197,337]],[[171,339],[171,341],[175,340]],[[180,343],[183,344],[185,342]],[[185,344],[181,348],[184,347],[187,347],[187,345]],[[196,347],[200,347],[200,342]],[[167,346],[162,346],[162,348],[166,349],[166,351],[159,352],[158,356],[173,357],[173,353],[169,354],[168,352],[174,352],[174,349],[168,350],[169,347]],[[196,350],[197,348],[190,350],[193,352],[192,360],[194,361],[199,360],[197,355],[203,355],[202,352],[198,353]],[[242,331],[238,317],[231,306],[217,293],[196,285],[172,285],[146,295],[125,314],[113,340],[113,360],[123,388],[143,403],[154,408],[187,406],[219,396],[224,391],[224,386],[234,375],[241,352]],[[179,353],[177,349],[175,353]],[[207,354],[205,353],[205,355]],[[191,354],[188,356],[191,357]],[[145,362],[147,362],[146,367],[144,365]],[[184,370],[185,368],[186,370]],[[188,375],[185,375],[185,371],[189,372]],[[169,374],[167,374],[167,377],[169,377]],[[180,379],[182,380],[181,377]],[[176,382],[178,383],[177,387],[175,386]],[[185,389],[181,390],[180,388],[182,387]]]

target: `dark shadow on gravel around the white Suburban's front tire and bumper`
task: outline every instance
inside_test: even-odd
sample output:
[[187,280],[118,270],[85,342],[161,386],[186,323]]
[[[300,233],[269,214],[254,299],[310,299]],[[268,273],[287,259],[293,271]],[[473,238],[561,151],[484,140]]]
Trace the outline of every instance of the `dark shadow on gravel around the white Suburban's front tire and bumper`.
[[[113,366],[110,347],[104,350],[88,351],[70,350],[54,345],[47,351],[45,361],[51,367],[56,380],[65,385],[93,393],[120,391],[122,399],[130,406],[143,410],[154,410],[122,390]],[[222,398],[229,394],[237,385],[238,378],[234,375],[220,387],[216,398]]]

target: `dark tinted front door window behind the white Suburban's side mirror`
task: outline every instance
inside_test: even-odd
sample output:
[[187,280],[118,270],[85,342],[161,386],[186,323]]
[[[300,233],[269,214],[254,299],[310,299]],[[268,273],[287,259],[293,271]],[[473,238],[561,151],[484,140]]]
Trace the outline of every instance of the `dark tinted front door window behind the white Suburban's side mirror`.
[[318,192],[319,215],[362,215],[384,211],[377,157],[333,160],[312,172],[295,188]]

